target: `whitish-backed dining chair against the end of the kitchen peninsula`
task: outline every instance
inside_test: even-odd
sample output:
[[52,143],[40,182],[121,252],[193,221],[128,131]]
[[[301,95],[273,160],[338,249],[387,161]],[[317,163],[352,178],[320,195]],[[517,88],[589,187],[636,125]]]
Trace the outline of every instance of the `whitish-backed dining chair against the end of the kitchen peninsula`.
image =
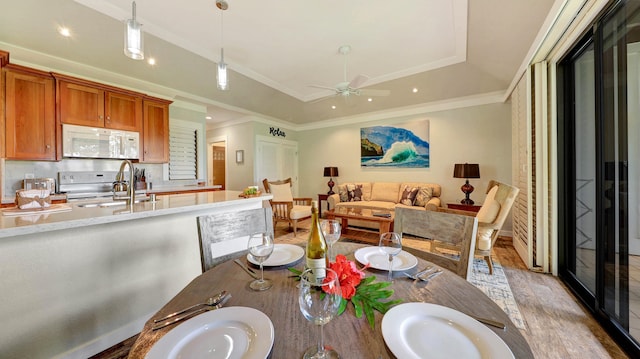
[[273,236],[271,217],[270,207],[199,216],[202,273],[246,252],[251,234],[266,232]]

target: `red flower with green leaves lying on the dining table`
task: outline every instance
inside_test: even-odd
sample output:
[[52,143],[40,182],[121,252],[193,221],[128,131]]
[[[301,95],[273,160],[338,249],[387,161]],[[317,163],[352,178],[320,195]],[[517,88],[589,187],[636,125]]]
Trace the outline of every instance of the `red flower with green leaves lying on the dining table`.
[[[342,301],[340,303],[340,309],[338,315],[342,314],[347,308],[347,304],[351,302],[353,304],[355,315],[357,318],[361,318],[364,314],[367,317],[369,326],[371,329],[375,328],[374,310],[384,314],[392,306],[402,302],[399,299],[382,301],[382,299],[389,298],[393,295],[393,290],[385,289],[390,282],[378,282],[373,283],[376,279],[375,276],[366,277],[364,270],[367,269],[367,264],[362,269],[358,269],[353,261],[350,261],[342,254],[336,256],[336,261],[329,263],[329,268],[333,269],[339,277],[340,290]],[[289,268],[289,270],[298,275],[302,274],[301,271],[295,268]]]

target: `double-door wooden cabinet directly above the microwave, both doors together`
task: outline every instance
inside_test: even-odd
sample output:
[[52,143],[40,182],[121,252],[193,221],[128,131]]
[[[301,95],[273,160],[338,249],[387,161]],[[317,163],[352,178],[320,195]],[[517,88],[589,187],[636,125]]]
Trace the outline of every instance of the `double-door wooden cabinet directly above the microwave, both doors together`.
[[60,123],[142,131],[142,94],[53,74]]

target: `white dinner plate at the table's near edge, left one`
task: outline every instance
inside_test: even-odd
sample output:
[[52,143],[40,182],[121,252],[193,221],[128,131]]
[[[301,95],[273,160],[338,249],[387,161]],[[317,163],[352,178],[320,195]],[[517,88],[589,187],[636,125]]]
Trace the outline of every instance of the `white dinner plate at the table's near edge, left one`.
[[226,307],[197,315],[172,329],[147,359],[265,359],[273,346],[273,323],[249,307]]

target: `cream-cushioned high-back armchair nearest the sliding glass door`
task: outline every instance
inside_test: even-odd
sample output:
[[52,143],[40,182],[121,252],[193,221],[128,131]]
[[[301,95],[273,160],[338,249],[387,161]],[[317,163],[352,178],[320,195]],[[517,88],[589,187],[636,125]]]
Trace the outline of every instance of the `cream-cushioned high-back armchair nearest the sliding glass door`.
[[[520,189],[516,187],[491,180],[487,186],[487,196],[477,214],[455,209],[438,208],[438,211],[441,212],[474,215],[478,219],[478,238],[476,239],[475,255],[483,257],[487,262],[489,274],[493,274],[491,249],[498,239],[502,225],[507,219],[511,207],[513,207],[518,192],[520,192]],[[432,250],[437,250],[439,246],[447,247],[445,243],[437,240],[432,241]]]

